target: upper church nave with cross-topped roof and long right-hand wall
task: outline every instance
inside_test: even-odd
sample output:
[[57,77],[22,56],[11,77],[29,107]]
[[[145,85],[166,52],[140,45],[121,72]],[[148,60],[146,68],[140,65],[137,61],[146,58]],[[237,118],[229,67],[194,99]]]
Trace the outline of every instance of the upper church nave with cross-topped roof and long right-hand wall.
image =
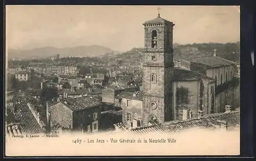
[[216,56],[181,58],[176,60],[176,67],[199,72],[211,77],[215,82],[216,109],[214,112],[225,111],[225,105],[240,105],[239,78],[236,77],[235,63]]

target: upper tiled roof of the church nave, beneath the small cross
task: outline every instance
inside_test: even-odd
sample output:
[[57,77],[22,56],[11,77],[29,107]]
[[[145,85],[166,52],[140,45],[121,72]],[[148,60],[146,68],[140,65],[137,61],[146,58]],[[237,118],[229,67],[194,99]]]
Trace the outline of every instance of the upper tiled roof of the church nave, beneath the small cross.
[[227,66],[227,65],[235,64],[234,62],[228,61],[228,60],[220,58],[220,57],[181,58],[181,60],[182,59],[185,61],[188,61],[188,62],[203,64],[208,67],[220,67],[220,66]]

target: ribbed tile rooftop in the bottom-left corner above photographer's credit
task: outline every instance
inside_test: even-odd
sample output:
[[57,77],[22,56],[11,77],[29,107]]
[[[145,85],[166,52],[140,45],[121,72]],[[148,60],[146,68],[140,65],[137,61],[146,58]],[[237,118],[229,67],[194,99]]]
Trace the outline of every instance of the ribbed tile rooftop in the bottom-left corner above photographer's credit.
[[[14,112],[14,109],[16,111]],[[7,113],[9,123],[6,125],[7,135],[13,135],[15,133],[34,133],[45,131],[45,123],[40,121],[37,122],[34,115],[36,115],[36,110],[33,105],[31,105],[31,110],[28,104],[16,104],[8,105]]]

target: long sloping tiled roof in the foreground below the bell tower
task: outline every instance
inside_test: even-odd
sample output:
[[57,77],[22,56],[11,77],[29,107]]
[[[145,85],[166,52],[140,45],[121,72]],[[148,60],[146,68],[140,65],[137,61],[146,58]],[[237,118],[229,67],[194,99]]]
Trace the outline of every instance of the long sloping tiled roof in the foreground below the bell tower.
[[192,128],[209,128],[218,129],[221,126],[220,121],[227,123],[227,128],[240,126],[240,112],[233,111],[230,113],[210,114],[202,118],[192,118],[184,121],[170,121],[160,124],[151,122],[152,125],[146,127],[138,127],[132,130],[127,129],[122,123],[115,124],[118,129],[124,130],[127,133],[144,134],[144,133],[177,133],[183,130]]

